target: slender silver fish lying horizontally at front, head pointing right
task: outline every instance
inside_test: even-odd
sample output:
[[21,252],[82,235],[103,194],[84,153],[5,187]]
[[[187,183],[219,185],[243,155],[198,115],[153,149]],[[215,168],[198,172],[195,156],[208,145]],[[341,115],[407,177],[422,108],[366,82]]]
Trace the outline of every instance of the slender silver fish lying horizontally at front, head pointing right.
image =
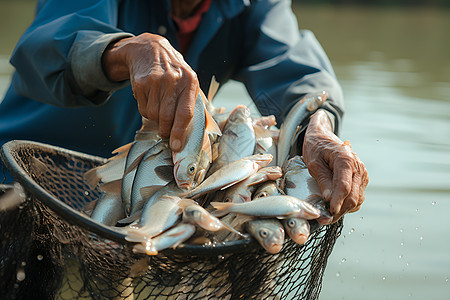
[[312,220],[320,216],[320,211],[308,202],[284,195],[256,198],[244,203],[211,202],[211,205],[217,209],[217,212],[214,212],[215,216],[223,216],[230,212],[278,219],[300,217]]

